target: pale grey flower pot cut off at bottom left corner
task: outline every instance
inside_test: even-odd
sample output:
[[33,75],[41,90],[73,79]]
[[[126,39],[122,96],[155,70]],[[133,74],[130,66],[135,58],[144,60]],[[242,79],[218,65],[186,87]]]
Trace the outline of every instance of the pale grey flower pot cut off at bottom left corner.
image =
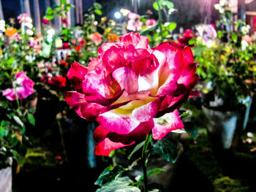
[[8,166],[5,169],[0,169],[0,191],[12,191],[12,167]]

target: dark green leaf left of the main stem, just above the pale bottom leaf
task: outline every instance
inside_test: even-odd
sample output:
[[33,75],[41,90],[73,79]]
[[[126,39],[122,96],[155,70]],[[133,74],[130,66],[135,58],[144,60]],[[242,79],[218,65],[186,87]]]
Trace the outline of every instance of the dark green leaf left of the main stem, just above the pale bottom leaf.
[[124,171],[124,167],[120,165],[116,166],[108,166],[98,177],[97,181],[94,183],[95,185],[103,186],[107,183],[110,183]]

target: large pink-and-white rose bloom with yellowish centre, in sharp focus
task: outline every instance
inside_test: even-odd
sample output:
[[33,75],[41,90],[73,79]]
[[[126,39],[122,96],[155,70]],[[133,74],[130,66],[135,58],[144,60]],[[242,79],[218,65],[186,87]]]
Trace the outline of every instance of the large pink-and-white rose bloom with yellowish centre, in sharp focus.
[[184,127],[176,109],[197,95],[192,88],[198,80],[189,47],[164,42],[151,49],[146,37],[129,33],[98,53],[88,67],[72,64],[68,78],[75,91],[65,93],[80,117],[99,123],[95,154],[132,145],[151,130],[162,139]]

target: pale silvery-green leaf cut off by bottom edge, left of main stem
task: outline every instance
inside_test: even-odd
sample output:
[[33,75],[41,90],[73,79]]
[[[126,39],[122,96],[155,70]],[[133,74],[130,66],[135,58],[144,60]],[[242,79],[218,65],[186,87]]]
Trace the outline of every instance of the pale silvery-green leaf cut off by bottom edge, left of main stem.
[[139,188],[132,187],[132,180],[129,177],[119,177],[116,180],[104,185],[102,188],[97,189],[96,192],[140,192]]

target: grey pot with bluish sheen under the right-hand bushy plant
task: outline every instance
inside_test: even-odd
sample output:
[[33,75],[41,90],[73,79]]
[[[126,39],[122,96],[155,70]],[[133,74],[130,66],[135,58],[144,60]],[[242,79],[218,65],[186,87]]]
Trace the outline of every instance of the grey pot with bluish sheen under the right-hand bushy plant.
[[243,130],[243,114],[238,111],[222,111],[219,107],[202,107],[207,120],[208,139],[214,147],[236,147]]

